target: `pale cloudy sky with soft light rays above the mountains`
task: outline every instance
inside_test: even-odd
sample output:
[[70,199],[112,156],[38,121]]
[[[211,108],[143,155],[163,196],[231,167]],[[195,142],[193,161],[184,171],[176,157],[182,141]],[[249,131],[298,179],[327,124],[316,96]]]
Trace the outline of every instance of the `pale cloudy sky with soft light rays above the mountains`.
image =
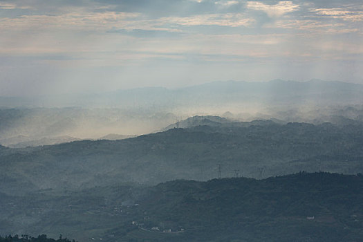
[[362,0],[0,0],[0,95],[363,84]]

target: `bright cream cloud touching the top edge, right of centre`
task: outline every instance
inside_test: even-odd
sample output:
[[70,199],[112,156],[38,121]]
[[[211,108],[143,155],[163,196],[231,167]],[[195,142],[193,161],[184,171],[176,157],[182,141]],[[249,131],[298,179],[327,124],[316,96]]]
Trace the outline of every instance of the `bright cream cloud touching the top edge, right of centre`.
[[299,10],[299,5],[292,3],[292,1],[279,1],[275,5],[268,5],[259,1],[248,1],[247,8],[266,12],[269,17],[279,17],[288,12]]

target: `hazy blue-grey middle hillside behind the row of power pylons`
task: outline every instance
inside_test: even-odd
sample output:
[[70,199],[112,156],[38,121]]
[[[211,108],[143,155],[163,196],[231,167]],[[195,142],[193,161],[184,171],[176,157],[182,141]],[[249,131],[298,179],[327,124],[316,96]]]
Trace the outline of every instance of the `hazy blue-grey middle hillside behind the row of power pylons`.
[[[170,129],[125,140],[2,149],[0,192],[157,184],[218,176],[265,178],[301,170],[363,171],[363,128],[251,122]],[[244,127],[247,126],[247,127]]]

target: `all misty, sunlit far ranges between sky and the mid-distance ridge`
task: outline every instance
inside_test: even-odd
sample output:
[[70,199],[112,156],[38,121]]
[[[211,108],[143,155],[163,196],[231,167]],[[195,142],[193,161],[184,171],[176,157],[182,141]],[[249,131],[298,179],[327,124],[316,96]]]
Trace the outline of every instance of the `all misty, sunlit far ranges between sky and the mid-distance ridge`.
[[[140,135],[165,130],[176,120],[184,127],[182,121],[196,115],[218,115],[227,121],[357,124],[363,122],[362,93],[360,84],[274,80],[57,97],[0,97],[0,144],[25,147],[59,143],[57,140],[67,136],[83,140],[109,133]],[[12,142],[14,139],[19,142]]]

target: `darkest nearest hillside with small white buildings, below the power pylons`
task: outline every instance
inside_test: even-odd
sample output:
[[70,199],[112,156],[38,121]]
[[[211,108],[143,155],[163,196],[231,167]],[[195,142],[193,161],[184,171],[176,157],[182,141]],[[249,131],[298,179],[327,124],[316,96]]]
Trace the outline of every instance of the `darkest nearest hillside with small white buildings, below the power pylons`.
[[[300,172],[1,196],[0,234],[89,241],[360,241],[363,176]],[[157,227],[157,229],[156,229]]]

